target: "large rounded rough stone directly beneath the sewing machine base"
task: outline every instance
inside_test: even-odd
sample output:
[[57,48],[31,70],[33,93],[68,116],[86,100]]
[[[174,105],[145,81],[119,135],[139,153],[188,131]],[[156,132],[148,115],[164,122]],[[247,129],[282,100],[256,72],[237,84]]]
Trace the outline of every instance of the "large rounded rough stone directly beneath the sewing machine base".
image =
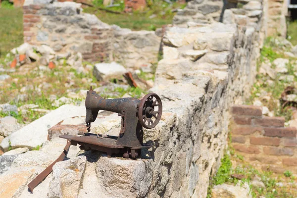
[[145,197],[152,179],[151,160],[101,156],[96,173],[109,197]]

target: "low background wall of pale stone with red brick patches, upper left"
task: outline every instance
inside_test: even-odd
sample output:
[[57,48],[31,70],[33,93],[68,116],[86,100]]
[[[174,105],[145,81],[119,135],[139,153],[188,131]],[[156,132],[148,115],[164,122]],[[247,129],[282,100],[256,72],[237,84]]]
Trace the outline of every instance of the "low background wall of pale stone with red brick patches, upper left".
[[83,13],[80,3],[26,0],[24,42],[48,45],[54,51],[81,52],[92,62],[119,61],[139,68],[155,63],[161,38],[153,31],[131,31]]

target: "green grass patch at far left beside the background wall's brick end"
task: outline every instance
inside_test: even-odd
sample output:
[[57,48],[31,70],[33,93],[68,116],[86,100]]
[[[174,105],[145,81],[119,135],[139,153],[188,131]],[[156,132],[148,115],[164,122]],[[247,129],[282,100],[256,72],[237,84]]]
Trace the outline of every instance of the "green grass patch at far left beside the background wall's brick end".
[[23,43],[23,11],[13,8],[6,1],[0,7],[0,59],[7,52]]

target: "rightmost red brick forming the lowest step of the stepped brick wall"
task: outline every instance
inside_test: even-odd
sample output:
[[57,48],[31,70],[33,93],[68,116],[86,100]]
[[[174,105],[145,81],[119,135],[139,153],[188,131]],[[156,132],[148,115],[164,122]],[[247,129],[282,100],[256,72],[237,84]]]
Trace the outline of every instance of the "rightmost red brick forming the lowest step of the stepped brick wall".
[[295,127],[285,127],[285,128],[264,128],[265,136],[273,137],[287,137],[296,138],[297,129]]

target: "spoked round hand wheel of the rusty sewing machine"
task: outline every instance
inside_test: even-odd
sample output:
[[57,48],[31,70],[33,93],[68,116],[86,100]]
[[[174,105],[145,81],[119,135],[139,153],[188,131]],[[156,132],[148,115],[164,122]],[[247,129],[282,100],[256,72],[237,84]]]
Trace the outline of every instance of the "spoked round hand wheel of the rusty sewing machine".
[[141,100],[138,108],[138,118],[140,124],[146,129],[152,129],[160,121],[161,115],[162,101],[160,97],[155,93],[147,94]]

